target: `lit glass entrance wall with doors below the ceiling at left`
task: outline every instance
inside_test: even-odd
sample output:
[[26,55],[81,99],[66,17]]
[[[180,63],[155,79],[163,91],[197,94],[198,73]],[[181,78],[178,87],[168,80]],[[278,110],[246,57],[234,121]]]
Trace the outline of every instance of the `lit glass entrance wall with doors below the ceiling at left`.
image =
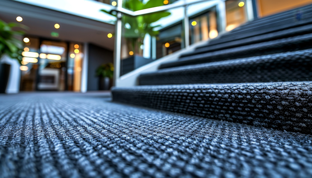
[[80,91],[82,44],[30,36],[25,39],[21,91]]

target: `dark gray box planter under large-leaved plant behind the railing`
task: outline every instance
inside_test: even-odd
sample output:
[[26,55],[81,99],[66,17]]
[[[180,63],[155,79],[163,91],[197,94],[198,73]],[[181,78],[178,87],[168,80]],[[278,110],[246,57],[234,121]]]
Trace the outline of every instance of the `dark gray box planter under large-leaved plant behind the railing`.
[[153,59],[147,59],[139,55],[134,55],[129,58],[123,59],[120,62],[120,75],[127,74],[134,69],[137,69],[145,64],[152,62]]

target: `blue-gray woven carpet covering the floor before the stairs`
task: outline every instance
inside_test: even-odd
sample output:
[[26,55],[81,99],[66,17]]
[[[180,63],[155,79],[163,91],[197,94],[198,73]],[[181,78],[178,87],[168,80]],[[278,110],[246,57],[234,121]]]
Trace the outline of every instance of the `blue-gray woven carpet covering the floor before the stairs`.
[[109,94],[0,95],[0,177],[312,177],[312,137]]

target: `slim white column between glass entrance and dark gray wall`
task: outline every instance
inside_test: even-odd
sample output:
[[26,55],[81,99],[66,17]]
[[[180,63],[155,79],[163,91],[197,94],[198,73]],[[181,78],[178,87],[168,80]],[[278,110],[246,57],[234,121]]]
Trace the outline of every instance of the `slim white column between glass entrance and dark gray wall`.
[[88,89],[88,61],[89,61],[89,44],[83,44],[83,61],[81,70],[81,93],[87,92]]

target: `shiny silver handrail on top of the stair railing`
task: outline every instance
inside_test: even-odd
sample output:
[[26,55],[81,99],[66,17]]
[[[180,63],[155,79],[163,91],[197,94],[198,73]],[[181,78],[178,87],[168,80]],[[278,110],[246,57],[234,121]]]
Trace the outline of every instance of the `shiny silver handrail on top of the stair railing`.
[[198,0],[195,2],[194,2],[194,0],[183,0],[183,1],[178,1],[176,3],[173,3],[173,4],[168,4],[165,6],[152,7],[152,8],[148,8],[148,9],[139,10],[139,11],[130,11],[130,10],[123,8],[123,7],[115,7],[112,10],[110,10],[110,14],[112,14],[113,12],[121,12],[124,15],[136,17],[136,16],[140,16],[140,15],[166,11],[166,10],[177,8],[177,7],[185,7],[185,6],[188,6],[190,4],[197,4],[200,2],[207,2],[207,1],[211,1],[211,0]]

